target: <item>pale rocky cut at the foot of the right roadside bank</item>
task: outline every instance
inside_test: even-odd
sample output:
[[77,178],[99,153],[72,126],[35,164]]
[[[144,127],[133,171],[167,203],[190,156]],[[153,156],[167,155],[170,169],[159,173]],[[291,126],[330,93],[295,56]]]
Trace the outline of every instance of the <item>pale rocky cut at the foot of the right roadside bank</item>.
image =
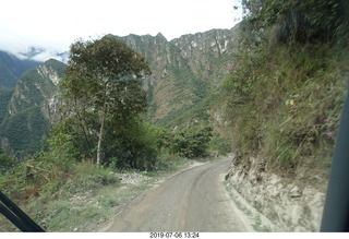
[[300,174],[287,179],[261,171],[258,160],[250,162],[251,167],[246,168],[243,164],[236,164],[234,158],[226,176],[227,183],[281,231],[318,231],[326,177],[313,176],[311,183]]

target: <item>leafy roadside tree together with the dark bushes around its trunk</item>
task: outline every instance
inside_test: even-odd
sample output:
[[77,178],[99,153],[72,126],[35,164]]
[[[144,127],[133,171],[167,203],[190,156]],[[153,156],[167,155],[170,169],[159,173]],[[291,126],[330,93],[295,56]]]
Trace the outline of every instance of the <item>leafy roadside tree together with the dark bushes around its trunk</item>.
[[112,36],[76,41],[70,56],[61,82],[60,133],[72,139],[81,158],[96,155],[99,165],[105,164],[104,154],[117,165],[127,160],[125,165],[140,168],[135,157],[144,155],[136,155],[143,152],[154,157],[142,142],[146,136],[134,136],[146,133],[139,120],[146,107],[141,80],[151,73],[145,59]]

